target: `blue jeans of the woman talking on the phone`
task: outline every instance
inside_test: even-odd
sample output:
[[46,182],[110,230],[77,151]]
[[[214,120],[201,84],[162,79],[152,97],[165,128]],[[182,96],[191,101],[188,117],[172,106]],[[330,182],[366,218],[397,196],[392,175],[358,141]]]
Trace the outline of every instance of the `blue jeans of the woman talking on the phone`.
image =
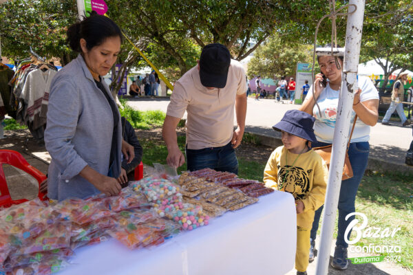
[[[312,147],[318,146],[325,146],[328,145],[323,142],[318,142],[312,144]],[[354,176],[351,179],[346,179],[341,181],[341,188],[340,188],[340,195],[339,195],[339,223],[338,223],[338,232],[337,232],[337,241],[336,246],[341,245],[344,248],[348,248],[348,243],[344,241],[344,232],[346,232],[346,228],[350,221],[354,219],[354,216],[350,217],[346,221],[347,214],[351,212],[355,212],[354,201],[356,200],[357,189],[359,188],[359,184],[361,178],[364,175],[364,171],[367,167],[368,162],[368,152],[370,149],[370,145],[368,142],[354,142],[350,143],[350,147],[348,148],[348,158],[350,159],[350,164],[353,170]],[[317,236],[317,230],[319,227],[319,220],[321,217],[321,212],[323,210],[323,206],[321,206],[318,210],[315,211],[314,221],[313,221],[313,228],[310,232],[310,238],[315,240]],[[350,238],[351,230],[348,232],[347,238]]]

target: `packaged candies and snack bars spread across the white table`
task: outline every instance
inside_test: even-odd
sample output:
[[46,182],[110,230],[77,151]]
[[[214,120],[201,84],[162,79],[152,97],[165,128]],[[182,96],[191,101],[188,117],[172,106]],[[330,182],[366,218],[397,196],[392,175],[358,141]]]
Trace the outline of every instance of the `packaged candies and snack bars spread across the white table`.
[[[176,178],[171,178],[176,180]],[[118,196],[39,199],[0,210],[0,274],[52,274],[74,250],[114,238],[128,248],[158,245],[273,192],[264,184],[209,168],[134,181]]]

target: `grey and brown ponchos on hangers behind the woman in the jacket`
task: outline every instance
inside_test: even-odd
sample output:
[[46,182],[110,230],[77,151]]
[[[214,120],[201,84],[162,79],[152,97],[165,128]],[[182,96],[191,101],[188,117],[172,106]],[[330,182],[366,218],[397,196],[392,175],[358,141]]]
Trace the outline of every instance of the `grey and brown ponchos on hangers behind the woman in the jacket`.
[[43,139],[47,104],[49,102],[50,83],[57,73],[56,67],[48,64],[34,65],[21,62],[17,66],[13,85],[12,101],[17,105],[16,120],[26,124],[36,139]]

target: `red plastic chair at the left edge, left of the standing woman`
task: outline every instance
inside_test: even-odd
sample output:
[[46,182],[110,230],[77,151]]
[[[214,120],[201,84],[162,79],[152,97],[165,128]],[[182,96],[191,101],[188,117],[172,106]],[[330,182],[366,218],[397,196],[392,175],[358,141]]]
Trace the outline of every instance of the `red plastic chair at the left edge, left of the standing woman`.
[[37,181],[39,181],[39,199],[42,201],[47,199],[46,193],[40,192],[40,184],[42,181],[47,179],[47,177],[39,170],[31,166],[19,152],[12,150],[0,150],[0,206],[10,207],[13,204],[28,201],[27,199],[12,200],[8,190],[6,176],[4,175],[3,164],[10,164],[11,166],[25,171],[25,173],[32,175]]

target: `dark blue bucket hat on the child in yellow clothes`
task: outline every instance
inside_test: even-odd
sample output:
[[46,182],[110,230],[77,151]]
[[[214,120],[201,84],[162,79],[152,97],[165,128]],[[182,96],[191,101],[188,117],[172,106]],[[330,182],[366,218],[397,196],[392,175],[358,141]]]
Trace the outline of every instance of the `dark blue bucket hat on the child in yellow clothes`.
[[297,135],[297,137],[310,142],[317,142],[313,129],[314,122],[313,115],[309,115],[304,111],[288,110],[282,120],[273,126],[273,129]]

